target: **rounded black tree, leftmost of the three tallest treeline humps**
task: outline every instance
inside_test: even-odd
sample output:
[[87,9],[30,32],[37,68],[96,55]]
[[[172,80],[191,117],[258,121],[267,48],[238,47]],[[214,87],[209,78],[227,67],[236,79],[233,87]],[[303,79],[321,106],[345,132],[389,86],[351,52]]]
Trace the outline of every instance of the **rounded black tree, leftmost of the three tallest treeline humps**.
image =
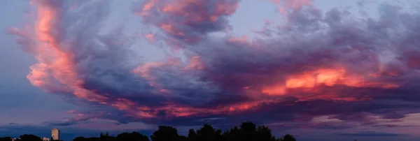
[[158,131],[151,135],[152,141],[176,141],[179,140],[178,131],[171,126],[159,126]]

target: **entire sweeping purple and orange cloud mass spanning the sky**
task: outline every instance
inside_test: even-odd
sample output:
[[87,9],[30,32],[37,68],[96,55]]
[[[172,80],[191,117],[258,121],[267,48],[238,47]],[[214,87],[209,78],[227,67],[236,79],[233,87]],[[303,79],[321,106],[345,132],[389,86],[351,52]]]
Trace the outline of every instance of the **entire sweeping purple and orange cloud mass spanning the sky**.
[[36,28],[10,33],[38,60],[27,76],[31,84],[73,94],[97,110],[49,123],[54,125],[95,118],[120,124],[309,123],[325,115],[374,125],[419,112],[420,34],[414,31],[420,14],[385,3],[378,18],[360,19],[339,8],[323,13],[309,2],[291,6],[279,27],[267,22],[269,34],[261,32],[261,38],[209,36],[231,27],[228,17],[239,1],[136,3],[134,14],[157,29],[146,38],[182,51],[160,61],[133,61],[139,58],[132,50],[136,40],[124,36],[123,27],[102,32],[108,1],[76,7],[35,1]]

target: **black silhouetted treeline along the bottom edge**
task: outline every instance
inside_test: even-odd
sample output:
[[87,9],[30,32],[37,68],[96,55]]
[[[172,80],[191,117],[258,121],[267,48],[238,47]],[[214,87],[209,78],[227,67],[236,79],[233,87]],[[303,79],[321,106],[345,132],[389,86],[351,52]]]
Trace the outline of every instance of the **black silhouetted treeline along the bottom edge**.
[[[35,135],[21,135],[18,141],[41,141]],[[209,124],[198,130],[190,129],[188,136],[179,135],[176,128],[171,126],[159,126],[150,136],[151,141],[296,141],[293,135],[286,134],[283,138],[276,138],[272,135],[271,129],[267,126],[256,126],[252,122],[244,122],[239,128],[235,126],[228,131],[222,132]],[[85,138],[77,137],[73,141],[150,141],[148,136],[141,133],[120,133],[111,136],[109,133],[101,133],[99,137]],[[10,141],[10,138],[0,138],[0,141]]]

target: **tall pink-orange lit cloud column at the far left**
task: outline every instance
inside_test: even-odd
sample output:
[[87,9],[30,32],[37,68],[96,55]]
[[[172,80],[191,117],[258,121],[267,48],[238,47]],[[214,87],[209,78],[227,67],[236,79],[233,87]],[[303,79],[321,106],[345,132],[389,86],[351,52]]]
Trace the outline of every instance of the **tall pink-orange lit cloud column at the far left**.
[[[78,79],[76,68],[71,61],[73,54],[66,52],[59,47],[59,7],[52,6],[48,1],[36,3],[38,6],[38,20],[35,25],[38,44],[34,53],[39,63],[31,66],[31,73],[28,79],[37,87],[43,87],[49,80],[45,78],[51,75],[64,87],[72,89],[73,94],[87,101],[104,101],[106,97],[83,89],[80,85],[83,80]],[[51,72],[47,74],[47,72]],[[47,88],[48,89],[48,88]]]

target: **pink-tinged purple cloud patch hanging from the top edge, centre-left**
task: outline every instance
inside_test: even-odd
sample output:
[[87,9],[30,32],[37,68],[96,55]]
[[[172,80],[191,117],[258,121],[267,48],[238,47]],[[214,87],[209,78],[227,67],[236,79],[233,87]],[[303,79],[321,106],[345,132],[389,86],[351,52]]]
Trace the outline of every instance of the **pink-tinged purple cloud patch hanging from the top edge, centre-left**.
[[165,42],[179,48],[184,43],[197,43],[211,32],[230,29],[227,17],[235,13],[238,3],[238,0],[148,0],[135,12],[146,24],[164,31]]

